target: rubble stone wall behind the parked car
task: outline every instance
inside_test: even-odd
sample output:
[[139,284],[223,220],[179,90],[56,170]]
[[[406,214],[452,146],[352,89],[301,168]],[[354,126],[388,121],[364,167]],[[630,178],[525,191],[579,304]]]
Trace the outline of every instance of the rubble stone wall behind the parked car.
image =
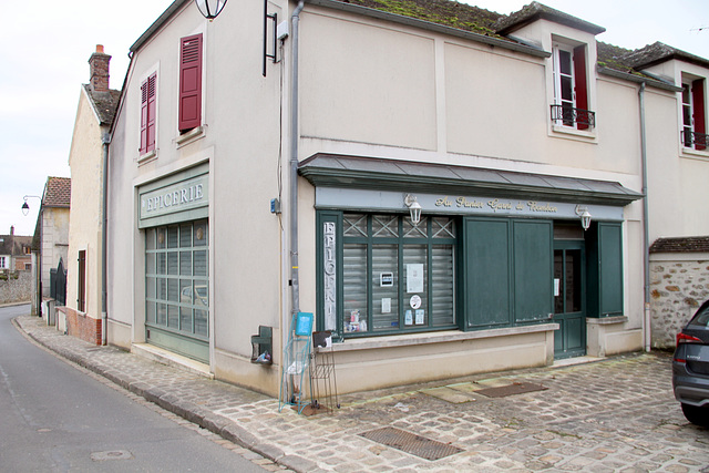
[[674,348],[677,332],[708,298],[709,255],[651,255],[653,348]]

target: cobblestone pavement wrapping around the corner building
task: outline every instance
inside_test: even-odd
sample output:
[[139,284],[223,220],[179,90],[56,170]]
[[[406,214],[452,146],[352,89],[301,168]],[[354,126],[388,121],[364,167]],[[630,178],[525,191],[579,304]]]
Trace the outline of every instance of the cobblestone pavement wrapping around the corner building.
[[[279,412],[277,399],[63,336],[34,317],[16,323],[130,395],[218,434],[243,454],[251,452],[269,470],[709,472],[709,430],[682,417],[668,353],[340,395],[341,409],[331,415],[306,417]],[[480,392],[510,385],[543,390],[503,398]],[[383,426],[460,452],[425,460],[422,450],[404,453],[361,435]]]

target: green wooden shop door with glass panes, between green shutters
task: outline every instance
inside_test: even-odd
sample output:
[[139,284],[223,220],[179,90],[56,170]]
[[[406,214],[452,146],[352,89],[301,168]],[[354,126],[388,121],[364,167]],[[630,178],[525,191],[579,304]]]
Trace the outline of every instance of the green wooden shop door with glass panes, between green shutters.
[[554,241],[554,358],[586,354],[584,241]]

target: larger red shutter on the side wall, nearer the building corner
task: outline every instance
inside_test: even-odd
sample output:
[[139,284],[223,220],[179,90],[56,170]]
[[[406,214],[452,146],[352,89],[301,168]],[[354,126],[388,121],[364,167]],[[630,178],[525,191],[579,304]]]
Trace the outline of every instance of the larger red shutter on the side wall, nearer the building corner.
[[202,34],[183,38],[179,48],[179,132],[202,124]]

